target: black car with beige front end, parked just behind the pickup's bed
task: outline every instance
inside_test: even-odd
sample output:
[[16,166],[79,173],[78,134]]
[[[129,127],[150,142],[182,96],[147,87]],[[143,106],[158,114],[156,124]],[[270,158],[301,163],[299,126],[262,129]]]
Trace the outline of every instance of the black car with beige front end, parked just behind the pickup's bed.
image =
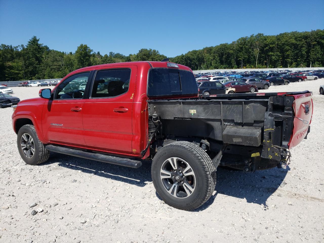
[[202,95],[216,95],[216,94],[234,94],[235,89],[226,87],[217,81],[204,81],[197,83],[198,93]]

